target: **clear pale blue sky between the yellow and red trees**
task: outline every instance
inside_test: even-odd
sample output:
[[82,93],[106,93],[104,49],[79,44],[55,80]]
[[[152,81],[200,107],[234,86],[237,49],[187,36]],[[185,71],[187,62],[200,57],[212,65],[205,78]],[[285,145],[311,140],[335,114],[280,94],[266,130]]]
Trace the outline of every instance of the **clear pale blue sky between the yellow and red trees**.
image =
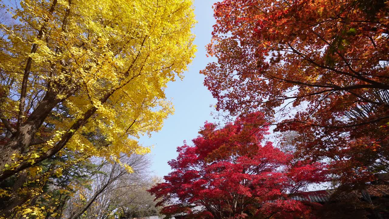
[[151,148],[151,171],[155,175],[163,177],[170,172],[167,161],[177,157],[176,148],[182,146],[182,142],[188,143],[198,136],[198,130],[205,120],[214,121],[210,115],[216,100],[203,86],[204,76],[199,73],[208,62],[214,60],[205,56],[205,46],[210,42],[212,25],[214,24],[212,5],[216,0],[194,0],[196,20],[198,23],[193,29],[196,35],[196,57],[189,65],[189,71],[185,72],[182,81],[177,80],[168,84],[166,97],[173,99],[174,115],[165,120],[163,128],[153,133],[151,138],[141,138],[139,143],[144,146],[154,145]]

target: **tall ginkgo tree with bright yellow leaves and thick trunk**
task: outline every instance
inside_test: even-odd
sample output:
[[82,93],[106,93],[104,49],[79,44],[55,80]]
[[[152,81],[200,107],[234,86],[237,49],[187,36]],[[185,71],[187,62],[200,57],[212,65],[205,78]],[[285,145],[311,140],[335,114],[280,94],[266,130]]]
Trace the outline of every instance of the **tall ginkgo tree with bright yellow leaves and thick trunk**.
[[[91,156],[120,162],[120,154],[149,152],[137,138],[173,112],[164,90],[194,57],[191,0],[0,7],[10,16],[0,19],[0,182],[14,182],[1,187],[0,198],[10,200],[3,214],[34,202],[43,193],[37,184]],[[40,167],[53,157],[72,159]],[[23,195],[9,198],[16,192]]]

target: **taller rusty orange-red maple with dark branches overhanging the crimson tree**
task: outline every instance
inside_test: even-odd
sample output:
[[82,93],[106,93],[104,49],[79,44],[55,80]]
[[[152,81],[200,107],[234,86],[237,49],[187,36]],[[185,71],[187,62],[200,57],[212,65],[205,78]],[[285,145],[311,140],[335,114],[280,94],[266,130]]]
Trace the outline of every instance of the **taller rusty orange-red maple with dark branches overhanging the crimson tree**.
[[260,109],[348,187],[389,171],[389,1],[224,0],[214,17],[218,110]]

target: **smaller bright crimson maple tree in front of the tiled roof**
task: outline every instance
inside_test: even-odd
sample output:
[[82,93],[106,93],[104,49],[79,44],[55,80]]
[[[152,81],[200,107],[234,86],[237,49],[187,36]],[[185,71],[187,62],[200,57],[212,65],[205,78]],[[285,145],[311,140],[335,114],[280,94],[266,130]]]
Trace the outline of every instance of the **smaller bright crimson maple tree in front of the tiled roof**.
[[[264,142],[262,113],[223,128],[206,122],[193,146],[178,147],[173,171],[150,192],[162,213],[186,218],[296,218],[312,216],[312,205],[291,199],[313,183],[325,182],[321,163],[297,162]],[[317,204],[319,205],[319,204]],[[196,207],[196,208],[194,208]]]

